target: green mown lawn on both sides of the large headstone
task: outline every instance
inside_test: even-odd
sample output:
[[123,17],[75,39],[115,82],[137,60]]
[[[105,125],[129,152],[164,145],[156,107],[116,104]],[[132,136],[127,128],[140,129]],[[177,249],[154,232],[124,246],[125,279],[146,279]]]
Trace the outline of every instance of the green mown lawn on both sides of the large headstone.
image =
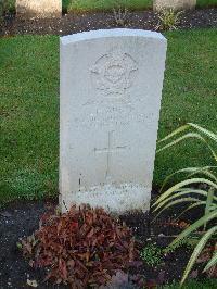
[[[217,131],[216,30],[165,35],[158,137],[187,122]],[[1,38],[0,55],[0,202],[58,196],[59,38]],[[182,143],[157,155],[154,185],[177,168],[210,162],[204,146]]]

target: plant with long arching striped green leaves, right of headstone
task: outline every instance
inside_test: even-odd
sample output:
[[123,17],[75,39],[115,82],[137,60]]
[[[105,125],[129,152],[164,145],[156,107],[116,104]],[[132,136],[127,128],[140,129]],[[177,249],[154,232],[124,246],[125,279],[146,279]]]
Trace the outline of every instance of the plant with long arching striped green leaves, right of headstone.
[[[177,136],[178,138],[175,138]],[[162,139],[159,143],[164,143],[165,141],[170,140],[173,138],[175,139],[171,140],[169,143],[163,146],[163,148],[161,148],[157,152],[171,148],[173,146],[176,146],[182,140],[193,138],[202,141],[207,146],[214,158],[214,161],[217,163],[217,154],[215,152],[217,146],[217,135],[215,133],[205,129],[196,124],[189,123],[184,126],[179,127],[174,133]],[[188,228],[186,228],[165,250],[165,252],[170,251],[171,249],[176,248],[184,238],[189,238],[192,233],[197,230],[200,227],[204,227],[204,231],[194,248],[189,263],[187,264],[181,284],[183,284],[187,279],[191,268],[195,264],[199,255],[202,253],[210,238],[214,237],[214,240],[216,241],[217,226],[209,225],[209,227],[207,228],[207,224],[217,218],[217,175],[214,173],[216,168],[217,166],[214,165],[204,167],[187,167],[175,172],[165,179],[162,186],[162,190],[165,188],[165,185],[175,174],[186,173],[188,175],[187,179],[176,184],[175,186],[164,191],[159,196],[157,201],[153,204],[154,211],[159,211],[159,213],[170,206],[182,203],[189,203],[188,208],[183,212],[187,212],[196,206],[204,206],[204,215],[200,219],[194,222],[192,225],[190,225]],[[196,188],[197,185],[202,185],[203,188]],[[217,252],[215,252],[214,250],[214,254],[205,266],[204,272],[216,266],[216,264]]]

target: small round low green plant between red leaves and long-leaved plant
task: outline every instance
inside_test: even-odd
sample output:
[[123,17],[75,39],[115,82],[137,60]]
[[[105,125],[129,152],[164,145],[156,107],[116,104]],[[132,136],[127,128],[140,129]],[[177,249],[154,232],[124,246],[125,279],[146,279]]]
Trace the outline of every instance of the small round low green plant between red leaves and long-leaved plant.
[[156,244],[149,243],[142,249],[140,257],[150,266],[158,266],[162,263],[163,251]]

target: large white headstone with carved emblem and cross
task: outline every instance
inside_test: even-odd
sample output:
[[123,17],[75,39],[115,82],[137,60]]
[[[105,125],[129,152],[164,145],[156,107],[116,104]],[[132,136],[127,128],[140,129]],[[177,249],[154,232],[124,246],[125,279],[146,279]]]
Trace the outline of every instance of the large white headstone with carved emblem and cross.
[[138,29],[61,38],[62,211],[149,210],[166,43]]

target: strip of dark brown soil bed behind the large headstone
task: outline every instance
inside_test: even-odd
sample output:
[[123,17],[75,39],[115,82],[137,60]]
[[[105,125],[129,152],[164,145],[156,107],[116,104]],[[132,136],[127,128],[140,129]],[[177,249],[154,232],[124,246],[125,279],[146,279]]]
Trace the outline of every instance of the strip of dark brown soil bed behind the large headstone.
[[[128,12],[124,27],[140,29],[156,29],[157,15],[153,11]],[[0,36],[25,34],[68,35],[90,29],[102,29],[118,26],[113,13],[65,14],[61,18],[21,20],[13,14],[4,16],[0,24]],[[217,27],[217,9],[197,9],[184,12],[177,28]]]

